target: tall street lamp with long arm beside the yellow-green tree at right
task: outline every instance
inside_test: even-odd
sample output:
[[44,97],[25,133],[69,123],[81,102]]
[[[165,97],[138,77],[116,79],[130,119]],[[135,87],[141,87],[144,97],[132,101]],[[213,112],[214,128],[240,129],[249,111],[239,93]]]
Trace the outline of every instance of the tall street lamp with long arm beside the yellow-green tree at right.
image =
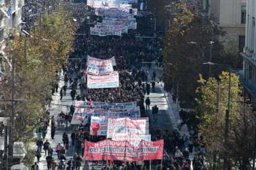
[[223,169],[226,170],[228,167],[228,160],[227,160],[227,148],[228,148],[228,132],[229,132],[229,114],[230,114],[230,98],[231,98],[231,66],[226,65],[226,64],[217,64],[214,62],[205,62],[203,63],[204,65],[209,65],[209,66],[222,66],[222,67],[228,67],[228,106],[226,110],[226,115],[225,115],[225,156],[223,160]]

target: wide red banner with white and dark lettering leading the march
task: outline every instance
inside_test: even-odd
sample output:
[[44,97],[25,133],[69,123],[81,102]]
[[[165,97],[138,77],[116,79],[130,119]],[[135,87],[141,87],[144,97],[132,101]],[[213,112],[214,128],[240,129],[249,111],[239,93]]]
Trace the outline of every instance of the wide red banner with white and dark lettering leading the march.
[[161,160],[163,159],[164,140],[148,142],[141,141],[138,147],[133,147],[128,141],[112,141],[106,139],[98,143],[84,142],[85,160]]

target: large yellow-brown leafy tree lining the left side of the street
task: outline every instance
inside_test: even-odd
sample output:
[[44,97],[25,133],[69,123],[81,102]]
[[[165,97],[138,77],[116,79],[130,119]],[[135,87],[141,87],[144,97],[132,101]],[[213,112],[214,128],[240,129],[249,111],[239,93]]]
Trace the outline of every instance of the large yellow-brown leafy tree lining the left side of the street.
[[[55,71],[67,62],[68,53],[72,51],[74,31],[76,25],[65,10],[58,10],[59,14],[42,16],[41,37],[38,29],[29,34],[35,40],[25,40],[24,36],[16,36],[6,53],[15,58],[15,99],[22,102],[15,103],[15,131],[14,141],[27,141],[33,138],[33,131],[47,118],[46,107],[51,99],[52,82]],[[38,41],[47,39],[47,41]],[[24,45],[26,41],[26,54]],[[26,55],[26,57],[25,57]],[[12,77],[10,70],[6,70],[6,77],[1,85],[0,94],[5,100],[12,99]],[[4,109],[3,117],[9,117],[12,106],[10,103],[0,103]]]

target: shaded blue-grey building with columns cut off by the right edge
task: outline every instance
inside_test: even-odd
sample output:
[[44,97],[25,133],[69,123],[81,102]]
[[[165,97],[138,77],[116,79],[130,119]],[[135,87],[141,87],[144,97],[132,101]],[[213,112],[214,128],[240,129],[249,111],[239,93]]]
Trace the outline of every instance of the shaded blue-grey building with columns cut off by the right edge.
[[245,45],[241,55],[243,56],[243,74],[241,81],[246,87],[253,102],[256,101],[256,2],[246,1],[246,34]]

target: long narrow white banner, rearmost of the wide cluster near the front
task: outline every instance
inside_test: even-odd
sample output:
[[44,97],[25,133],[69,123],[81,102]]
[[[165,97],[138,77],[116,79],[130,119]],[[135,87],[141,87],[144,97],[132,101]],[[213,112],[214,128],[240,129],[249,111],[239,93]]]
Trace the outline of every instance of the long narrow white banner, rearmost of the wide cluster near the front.
[[76,108],[102,108],[106,110],[131,110],[137,108],[137,102],[129,103],[107,103],[107,102],[95,102],[88,101],[75,101]]

